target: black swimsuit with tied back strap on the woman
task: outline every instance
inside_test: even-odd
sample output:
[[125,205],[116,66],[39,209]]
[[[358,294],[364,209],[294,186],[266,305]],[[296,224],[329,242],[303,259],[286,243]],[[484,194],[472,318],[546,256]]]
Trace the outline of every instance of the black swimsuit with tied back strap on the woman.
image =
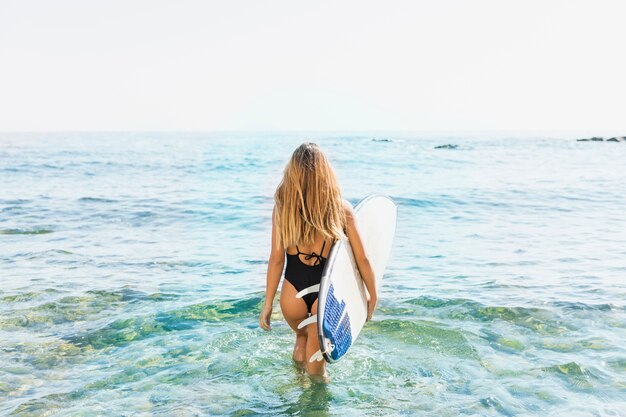
[[[285,268],[285,279],[294,287],[298,292],[309,289],[309,293],[302,296],[302,299],[306,303],[306,308],[309,313],[311,313],[311,308],[313,307],[313,303],[317,300],[317,293],[319,291],[319,283],[322,280],[322,272],[324,271],[324,265],[326,265],[326,258],[322,256],[324,253],[324,246],[326,245],[326,241],[322,245],[322,250],[318,255],[315,252],[312,253],[304,253],[300,252],[298,246],[296,245],[296,249],[298,253],[290,254],[285,251],[287,255],[287,267]],[[300,255],[306,255],[304,257],[305,260],[309,260],[311,258],[317,258],[313,265],[307,265],[302,262],[300,259]]]

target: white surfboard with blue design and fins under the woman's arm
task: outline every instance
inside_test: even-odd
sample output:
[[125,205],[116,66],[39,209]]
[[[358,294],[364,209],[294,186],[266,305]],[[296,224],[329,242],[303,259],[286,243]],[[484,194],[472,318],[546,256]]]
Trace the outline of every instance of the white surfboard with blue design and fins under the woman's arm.
[[[391,198],[371,194],[359,201],[354,212],[378,292],[391,254],[398,208]],[[317,315],[309,319],[317,321],[320,343],[320,350],[312,355],[310,362],[322,359],[337,362],[365,325],[367,288],[347,240],[335,242],[330,250],[319,284]]]

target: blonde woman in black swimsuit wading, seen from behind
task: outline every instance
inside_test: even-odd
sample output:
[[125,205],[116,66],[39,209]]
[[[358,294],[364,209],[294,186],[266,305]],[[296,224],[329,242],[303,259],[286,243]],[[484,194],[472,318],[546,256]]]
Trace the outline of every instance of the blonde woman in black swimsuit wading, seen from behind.
[[[272,211],[272,249],[267,266],[265,306],[260,326],[270,330],[274,295],[285,265],[285,279],[280,294],[280,308],[289,326],[296,332],[293,360],[309,375],[326,376],[326,361],[309,359],[320,349],[317,323],[298,325],[317,314],[317,291],[326,258],[337,239],[348,239],[368,296],[367,319],[370,320],[378,294],[374,271],[369,263],[354,211],[342,200],[335,173],[326,156],[315,143],[303,143],[291,156],[283,179],[274,194]],[[313,291],[296,298],[306,288]]]

